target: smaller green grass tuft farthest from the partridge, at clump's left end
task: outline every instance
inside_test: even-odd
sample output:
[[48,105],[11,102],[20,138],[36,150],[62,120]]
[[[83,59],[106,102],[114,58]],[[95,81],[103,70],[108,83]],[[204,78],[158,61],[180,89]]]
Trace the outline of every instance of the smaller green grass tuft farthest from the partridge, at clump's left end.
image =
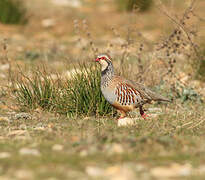
[[21,106],[30,109],[40,106],[47,110],[52,107],[56,90],[51,78],[36,72],[33,79],[18,80],[16,85],[16,98]]

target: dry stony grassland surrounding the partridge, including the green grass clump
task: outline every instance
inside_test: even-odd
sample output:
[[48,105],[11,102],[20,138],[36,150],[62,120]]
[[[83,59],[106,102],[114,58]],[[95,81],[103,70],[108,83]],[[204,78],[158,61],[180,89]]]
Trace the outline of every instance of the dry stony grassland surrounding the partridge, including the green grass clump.
[[[121,12],[114,0],[36,1],[23,1],[26,25],[0,24],[0,177],[204,179],[205,2]],[[173,102],[117,127],[93,63],[101,52]]]

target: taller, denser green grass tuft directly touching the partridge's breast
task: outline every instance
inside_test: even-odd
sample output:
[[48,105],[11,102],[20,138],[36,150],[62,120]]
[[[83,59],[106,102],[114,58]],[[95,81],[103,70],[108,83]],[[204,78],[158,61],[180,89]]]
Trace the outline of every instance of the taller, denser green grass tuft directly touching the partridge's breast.
[[56,98],[56,109],[69,115],[106,115],[112,107],[100,90],[100,70],[95,66],[80,66],[80,72],[64,84]]

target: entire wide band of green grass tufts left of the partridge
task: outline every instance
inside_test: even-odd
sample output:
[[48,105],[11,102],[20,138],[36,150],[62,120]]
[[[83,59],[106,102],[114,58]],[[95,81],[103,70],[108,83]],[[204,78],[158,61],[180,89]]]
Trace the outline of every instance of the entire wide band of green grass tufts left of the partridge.
[[113,108],[100,90],[100,70],[95,66],[80,65],[80,71],[66,81],[54,81],[43,73],[33,78],[18,80],[16,99],[24,110],[42,108],[68,116],[111,115]]

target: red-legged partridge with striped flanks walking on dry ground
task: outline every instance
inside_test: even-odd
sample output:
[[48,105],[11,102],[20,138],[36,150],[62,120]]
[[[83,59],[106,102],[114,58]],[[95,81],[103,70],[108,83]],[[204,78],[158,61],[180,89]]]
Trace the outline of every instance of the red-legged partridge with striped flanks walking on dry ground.
[[140,115],[145,119],[142,106],[151,101],[167,101],[161,95],[152,92],[143,84],[136,83],[114,73],[110,56],[98,55],[96,62],[101,65],[101,91],[105,99],[117,109],[120,118],[126,117],[127,112],[139,107]]

